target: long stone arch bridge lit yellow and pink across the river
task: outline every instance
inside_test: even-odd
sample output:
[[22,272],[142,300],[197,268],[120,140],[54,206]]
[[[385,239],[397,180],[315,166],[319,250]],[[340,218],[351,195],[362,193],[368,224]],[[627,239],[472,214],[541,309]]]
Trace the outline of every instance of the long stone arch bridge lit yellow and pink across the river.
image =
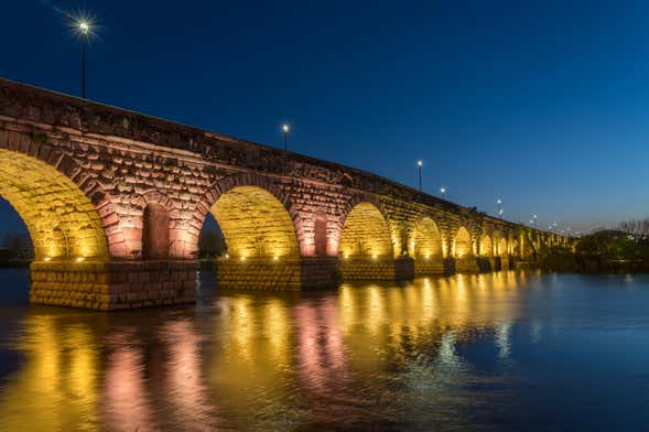
[[378,175],[0,79],[0,195],[34,247],[34,303],[194,302],[212,212],[221,288],[300,290],[532,260],[565,238]]

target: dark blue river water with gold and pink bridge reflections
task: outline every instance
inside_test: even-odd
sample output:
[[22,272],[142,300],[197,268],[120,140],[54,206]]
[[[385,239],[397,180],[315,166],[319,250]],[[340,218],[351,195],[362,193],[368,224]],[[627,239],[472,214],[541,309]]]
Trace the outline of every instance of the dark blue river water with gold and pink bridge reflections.
[[1,270],[0,431],[647,430],[649,277],[499,272],[96,313]]

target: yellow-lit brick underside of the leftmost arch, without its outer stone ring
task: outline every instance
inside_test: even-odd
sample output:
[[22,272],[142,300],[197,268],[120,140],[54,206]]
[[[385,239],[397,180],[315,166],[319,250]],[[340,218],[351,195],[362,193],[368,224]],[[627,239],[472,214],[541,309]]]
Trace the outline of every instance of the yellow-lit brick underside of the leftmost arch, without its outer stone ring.
[[24,222],[36,260],[108,257],[95,206],[54,166],[0,149],[0,196]]

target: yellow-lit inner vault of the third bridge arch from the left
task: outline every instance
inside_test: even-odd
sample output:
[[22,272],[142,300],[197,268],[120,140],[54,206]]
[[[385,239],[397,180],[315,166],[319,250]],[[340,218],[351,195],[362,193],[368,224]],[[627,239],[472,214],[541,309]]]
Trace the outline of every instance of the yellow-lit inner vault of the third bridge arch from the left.
[[353,257],[393,257],[390,227],[371,203],[358,203],[345,218],[339,253]]

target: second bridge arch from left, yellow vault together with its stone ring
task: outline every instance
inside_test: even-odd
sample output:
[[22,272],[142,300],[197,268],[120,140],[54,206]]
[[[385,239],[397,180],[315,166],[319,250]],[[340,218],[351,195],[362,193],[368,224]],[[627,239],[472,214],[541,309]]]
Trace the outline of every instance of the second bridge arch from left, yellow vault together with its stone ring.
[[[224,198],[225,202],[221,201]],[[218,207],[215,207],[217,205]],[[229,206],[245,212],[244,224],[234,223],[238,217],[227,210]],[[195,207],[192,228],[183,240],[185,256],[196,255],[198,235],[208,212],[212,212],[220,226],[228,253],[232,257],[242,257],[242,253],[250,257],[260,253],[272,257],[299,256],[307,249],[303,241],[301,218],[291,199],[266,177],[241,173],[213,183]],[[245,230],[248,230],[248,234]],[[257,238],[253,241],[257,246],[250,242],[251,235]],[[273,241],[277,245],[270,245]]]

